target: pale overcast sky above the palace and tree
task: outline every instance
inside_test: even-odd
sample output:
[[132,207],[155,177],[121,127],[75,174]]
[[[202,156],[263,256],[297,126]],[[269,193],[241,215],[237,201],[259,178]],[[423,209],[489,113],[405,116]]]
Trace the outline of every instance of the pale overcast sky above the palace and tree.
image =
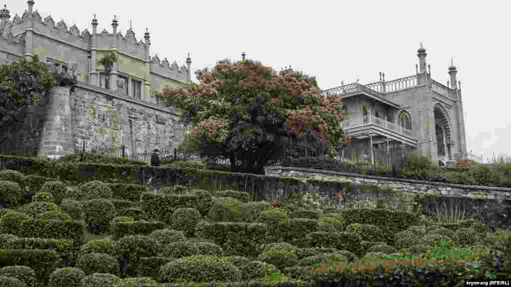
[[[28,8],[6,1],[11,20]],[[92,31],[111,32],[113,15],[123,35],[132,21],[137,40],[146,28],[151,57],[179,66],[191,53],[192,70],[217,60],[247,58],[280,70],[286,65],[316,76],[321,89],[415,74],[423,42],[434,80],[447,84],[451,57],[461,81],[467,148],[478,156],[511,155],[508,91],[511,1],[55,1],[35,0],[51,15]],[[453,123],[454,124],[454,123]]]

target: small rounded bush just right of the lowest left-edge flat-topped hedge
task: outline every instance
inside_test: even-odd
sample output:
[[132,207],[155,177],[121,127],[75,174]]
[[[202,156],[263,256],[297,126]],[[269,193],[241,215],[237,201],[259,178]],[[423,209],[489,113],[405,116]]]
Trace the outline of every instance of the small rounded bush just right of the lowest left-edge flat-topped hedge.
[[76,267],[85,275],[92,273],[119,274],[119,261],[106,253],[85,253],[78,258]]

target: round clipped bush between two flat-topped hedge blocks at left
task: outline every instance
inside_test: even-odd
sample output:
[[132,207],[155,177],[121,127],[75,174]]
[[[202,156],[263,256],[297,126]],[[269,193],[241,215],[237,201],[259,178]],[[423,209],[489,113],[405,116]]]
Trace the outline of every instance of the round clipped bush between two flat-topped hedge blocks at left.
[[92,199],[83,202],[83,214],[89,230],[94,233],[102,233],[115,217],[115,206],[104,199]]

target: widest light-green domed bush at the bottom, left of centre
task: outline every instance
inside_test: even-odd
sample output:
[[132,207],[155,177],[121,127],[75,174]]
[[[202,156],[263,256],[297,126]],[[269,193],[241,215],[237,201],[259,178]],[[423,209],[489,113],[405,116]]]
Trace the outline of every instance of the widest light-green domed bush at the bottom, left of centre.
[[240,281],[241,271],[233,264],[216,256],[196,255],[172,260],[162,266],[159,278],[162,283],[178,280],[194,282]]

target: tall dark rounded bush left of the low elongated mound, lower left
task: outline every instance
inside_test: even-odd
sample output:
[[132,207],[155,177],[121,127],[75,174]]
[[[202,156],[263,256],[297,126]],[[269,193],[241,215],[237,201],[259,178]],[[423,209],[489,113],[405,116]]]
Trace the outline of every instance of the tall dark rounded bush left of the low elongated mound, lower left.
[[145,235],[124,236],[115,244],[115,254],[120,257],[124,277],[135,276],[141,257],[156,256],[157,253],[158,242]]

